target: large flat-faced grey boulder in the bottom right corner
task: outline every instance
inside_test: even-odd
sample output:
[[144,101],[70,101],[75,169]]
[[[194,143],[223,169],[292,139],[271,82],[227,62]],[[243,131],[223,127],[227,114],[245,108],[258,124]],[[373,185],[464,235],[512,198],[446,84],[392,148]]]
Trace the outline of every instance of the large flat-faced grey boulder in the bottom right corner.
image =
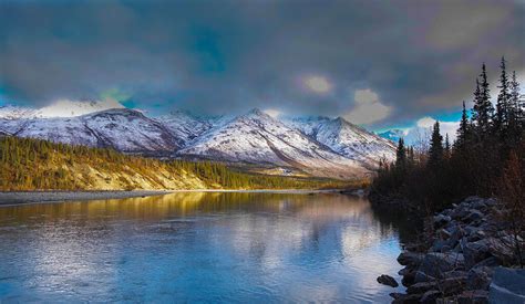
[[490,303],[525,303],[525,270],[497,268],[492,277]]

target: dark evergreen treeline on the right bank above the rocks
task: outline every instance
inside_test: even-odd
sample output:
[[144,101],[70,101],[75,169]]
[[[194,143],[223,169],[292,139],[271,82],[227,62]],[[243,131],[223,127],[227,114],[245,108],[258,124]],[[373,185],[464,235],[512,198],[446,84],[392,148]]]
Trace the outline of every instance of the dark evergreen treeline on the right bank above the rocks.
[[507,73],[504,57],[500,67],[495,106],[483,64],[472,109],[463,102],[454,143],[440,135],[439,122],[426,145],[405,146],[401,138],[395,161],[382,161],[372,181],[373,199],[405,201],[428,212],[472,195],[524,206],[525,104],[516,73]]

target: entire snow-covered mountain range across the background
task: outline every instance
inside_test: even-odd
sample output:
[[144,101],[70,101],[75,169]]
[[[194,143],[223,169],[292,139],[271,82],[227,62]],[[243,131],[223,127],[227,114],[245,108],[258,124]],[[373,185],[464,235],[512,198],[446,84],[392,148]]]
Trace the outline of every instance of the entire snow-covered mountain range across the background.
[[238,116],[177,111],[148,117],[100,102],[62,102],[41,109],[0,107],[1,134],[341,179],[369,175],[380,158],[393,159],[395,148],[341,117],[277,119],[257,108]]

